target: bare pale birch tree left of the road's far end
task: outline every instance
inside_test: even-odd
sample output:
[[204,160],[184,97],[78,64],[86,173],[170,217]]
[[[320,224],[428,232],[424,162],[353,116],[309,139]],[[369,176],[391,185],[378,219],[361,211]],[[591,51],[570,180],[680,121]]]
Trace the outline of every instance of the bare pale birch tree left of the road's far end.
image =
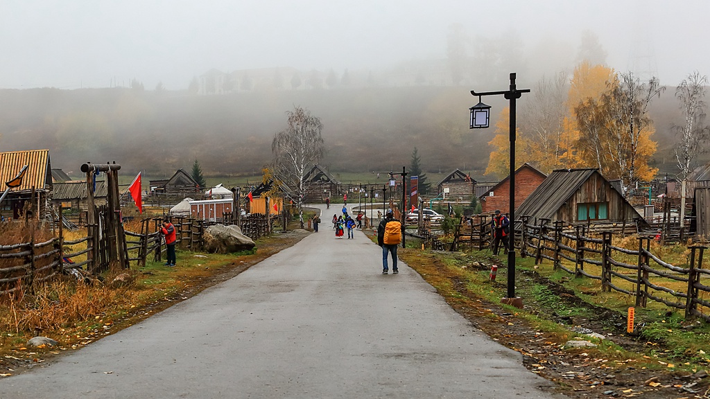
[[286,195],[295,201],[303,228],[303,204],[308,191],[308,172],[323,156],[323,124],[310,111],[295,107],[287,111],[288,127],[275,134],[271,143],[273,173]]

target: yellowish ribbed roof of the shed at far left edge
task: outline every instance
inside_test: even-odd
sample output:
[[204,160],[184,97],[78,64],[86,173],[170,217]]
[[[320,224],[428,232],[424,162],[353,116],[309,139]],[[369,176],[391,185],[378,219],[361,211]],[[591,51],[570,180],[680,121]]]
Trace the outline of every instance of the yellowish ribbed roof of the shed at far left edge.
[[19,187],[13,188],[10,192],[51,190],[52,188],[52,167],[49,160],[49,150],[29,150],[12,151],[0,153],[0,184],[2,191],[5,183],[13,180],[22,167],[27,165],[27,171],[22,178]]

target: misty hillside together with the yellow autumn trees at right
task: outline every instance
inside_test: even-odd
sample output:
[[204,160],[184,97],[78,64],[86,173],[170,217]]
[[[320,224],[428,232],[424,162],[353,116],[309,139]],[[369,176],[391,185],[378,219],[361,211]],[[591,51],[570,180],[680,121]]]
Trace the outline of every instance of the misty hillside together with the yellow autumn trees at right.
[[[618,141],[611,134],[618,121],[597,120],[591,126],[589,115],[610,112],[613,91],[623,88],[624,76],[588,63],[537,82],[519,76],[518,87],[531,92],[518,100],[517,160],[545,173],[601,166],[609,177],[623,177],[613,175],[623,171],[613,160],[593,151]],[[640,92],[648,87],[637,83]],[[644,121],[635,132],[635,176],[640,180],[679,173],[674,148],[680,138],[673,126],[685,122],[675,95],[680,83],[659,85],[638,115]],[[285,129],[285,113],[302,106],[322,121],[322,165],[331,171],[398,170],[410,165],[417,148],[425,173],[459,168],[479,179],[500,179],[508,168],[507,101],[502,96],[486,98],[493,107],[491,129],[471,130],[468,108],[478,102],[471,89],[507,87],[422,84],[255,89],[205,96],[142,86],[6,89],[0,90],[0,151],[48,148],[53,168],[75,175],[87,161],[116,161],[129,174],[143,170],[146,175],[169,176],[177,168],[189,171],[195,160],[208,177],[251,175],[271,160],[271,142]],[[704,162],[702,157],[694,162]]]

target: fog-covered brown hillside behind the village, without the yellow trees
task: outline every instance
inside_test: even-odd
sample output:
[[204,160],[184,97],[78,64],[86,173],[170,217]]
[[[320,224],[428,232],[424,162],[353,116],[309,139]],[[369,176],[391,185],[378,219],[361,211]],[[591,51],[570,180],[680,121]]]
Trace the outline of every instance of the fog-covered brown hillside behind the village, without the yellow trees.
[[[258,173],[271,160],[274,133],[285,129],[285,112],[303,106],[322,120],[322,163],[330,170],[398,169],[410,164],[416,146],[425,172],[482,173],[495,129],[469,130],[475,100],[464,87],[432,86],[212,96],[125,88],[1,90],[0,150],[49,148],[53,168],[70,173],[87,161],[115,160],[126,173],[170,175],[189,170],[195,159],[208,176]],[[506,102],[486,102],[493,106],[494,126]],[[655,99],[651,113],[659,142],[655,164],[672,171],[670,124],[679,112],[671,89]]]

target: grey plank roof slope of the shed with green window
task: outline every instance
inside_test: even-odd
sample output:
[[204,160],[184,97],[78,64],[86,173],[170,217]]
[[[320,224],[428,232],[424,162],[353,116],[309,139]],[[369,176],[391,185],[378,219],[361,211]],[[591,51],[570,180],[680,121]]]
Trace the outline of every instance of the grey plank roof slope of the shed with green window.
[[515,214],[535,215],[537,219],[553,219],[562,204],[567,202],[594,173],[601,176],[599,170],[591,168],[553,170],[547,179],[520,204]]

